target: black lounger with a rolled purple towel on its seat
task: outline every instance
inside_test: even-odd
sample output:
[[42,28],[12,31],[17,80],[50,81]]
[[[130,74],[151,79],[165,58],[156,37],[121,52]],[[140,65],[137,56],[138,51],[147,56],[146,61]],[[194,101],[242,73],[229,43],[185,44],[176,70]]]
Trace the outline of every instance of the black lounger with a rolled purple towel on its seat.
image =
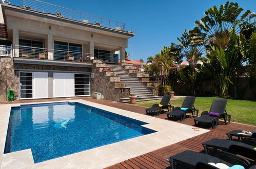
[[210,124],[212,129],[215,129],[218,126],[220,118],[224,118],[225,124],[229,124],[231,115],[228,115],[225,110],[227,101],[227,99],[213,99],[210,111],[204,111],[200,117],[194,118],[194,124]]

